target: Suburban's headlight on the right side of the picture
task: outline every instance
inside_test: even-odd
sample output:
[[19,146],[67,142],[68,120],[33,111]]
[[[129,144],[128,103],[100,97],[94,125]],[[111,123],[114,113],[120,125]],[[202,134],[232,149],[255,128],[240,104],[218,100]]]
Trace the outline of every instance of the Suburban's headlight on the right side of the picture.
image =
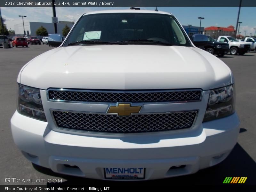
[[235,112],[235,85],[228,85],[210,91],[205,121],[229,116]]

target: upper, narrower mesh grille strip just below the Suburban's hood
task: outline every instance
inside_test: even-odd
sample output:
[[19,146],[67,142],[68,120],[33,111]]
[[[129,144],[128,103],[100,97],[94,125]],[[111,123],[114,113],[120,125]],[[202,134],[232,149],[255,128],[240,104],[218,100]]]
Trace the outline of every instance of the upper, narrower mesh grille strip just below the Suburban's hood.
[[172,102],[199,101],[202,92],[196,91],[61,91],[48,90],[50,100],[89,101],[89,102]]

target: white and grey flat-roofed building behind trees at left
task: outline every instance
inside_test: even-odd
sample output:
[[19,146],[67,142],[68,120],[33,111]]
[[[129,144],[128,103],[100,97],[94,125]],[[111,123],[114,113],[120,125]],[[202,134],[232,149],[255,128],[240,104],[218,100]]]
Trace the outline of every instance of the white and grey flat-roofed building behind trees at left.
[[[57,31],[58,33],[62,33],[62,29],[65,27],[65,25],[68,25],[68,27],[72,27],[74,25],[74,22],[72,21],[59,21],[57,23]],[[43,23],[43,22],[26,22],[24,23],[24,28],[27,35],[36,36],[36,29],[43,26],[47,29],[48,34],[54,34],[54,24],[53,23]],[[24,30],[23,30],[23,24],[17,24],[14,25],[15,35],[21,35],[24,36]]]

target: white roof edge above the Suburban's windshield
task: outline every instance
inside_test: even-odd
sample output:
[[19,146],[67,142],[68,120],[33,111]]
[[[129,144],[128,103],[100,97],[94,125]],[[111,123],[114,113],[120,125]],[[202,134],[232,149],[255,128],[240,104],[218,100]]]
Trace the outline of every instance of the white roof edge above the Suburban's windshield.
[[163,11],[134,10],[134,9],[93,11],[93,12],[84,13],[84,15],[98,14],[98,13],[155,13],[155,14],[172,15],[171,13],[163,12]]

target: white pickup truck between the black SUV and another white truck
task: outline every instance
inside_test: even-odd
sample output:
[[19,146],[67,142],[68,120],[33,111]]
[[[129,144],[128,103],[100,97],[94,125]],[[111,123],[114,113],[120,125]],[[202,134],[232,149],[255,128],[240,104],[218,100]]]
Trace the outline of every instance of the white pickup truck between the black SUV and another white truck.
[[243,41],[238,41],[234,37],[231,36],[219,36],[219,42],[224,42],[229,44],[229,51],[231,55],[244,55],[244,53],[249,52],[251,50],[250,44],[245,44]]

